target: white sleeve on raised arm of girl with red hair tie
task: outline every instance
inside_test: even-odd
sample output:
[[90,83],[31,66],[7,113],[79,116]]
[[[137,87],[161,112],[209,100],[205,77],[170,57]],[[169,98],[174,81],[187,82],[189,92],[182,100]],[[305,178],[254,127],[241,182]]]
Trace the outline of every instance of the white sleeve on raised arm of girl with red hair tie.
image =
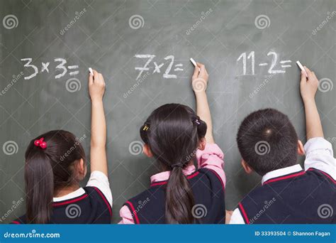
[[105,196],[112,207],[113,199],[112,193],[110,188],[110,183],[108,182],[107,176],[102,173],[101,171],[93,171],[91,172],[89,181],[87,182],[86,186],[94,186],[101,190],[101,193]]

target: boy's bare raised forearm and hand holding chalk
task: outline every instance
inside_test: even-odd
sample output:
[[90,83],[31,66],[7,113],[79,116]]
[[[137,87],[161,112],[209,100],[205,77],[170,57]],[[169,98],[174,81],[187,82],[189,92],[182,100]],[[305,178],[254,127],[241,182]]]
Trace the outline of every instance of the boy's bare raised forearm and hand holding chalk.
[[308,74],[308,78],[301,71],[301,97],[305,106],[306,113],[306,134],[307,140],[315,137],[323,137],[323,129],[318,114],[318,108],[315,103],[315,94],[318,90],[318,78],[314,72],[311,72],[308,68],[304,67]]

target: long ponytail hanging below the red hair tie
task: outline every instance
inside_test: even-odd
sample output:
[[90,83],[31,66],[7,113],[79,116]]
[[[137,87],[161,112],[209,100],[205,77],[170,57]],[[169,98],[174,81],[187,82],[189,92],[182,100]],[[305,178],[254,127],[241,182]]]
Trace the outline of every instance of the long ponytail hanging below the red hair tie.
[[25,180],[27,222],[46,224],[52,215],[54,176],[50,159],[44,151],[37,151],[33,158],[26,161]]

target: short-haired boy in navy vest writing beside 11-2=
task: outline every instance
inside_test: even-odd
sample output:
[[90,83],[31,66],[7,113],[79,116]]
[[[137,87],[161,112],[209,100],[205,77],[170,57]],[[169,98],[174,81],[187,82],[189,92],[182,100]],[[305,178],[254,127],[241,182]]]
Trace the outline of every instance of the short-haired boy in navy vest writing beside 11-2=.
[[[301,97],[306,112],[305,146],[289,118],[275,109],[247,116],[237,134],[242,167],[262,175],[234,210],[230,224],[331,224],[336,222],[336,160],[323,138],[315,104],[318,79],[301,72]],[[306,153],[304,170],[296,163]]]

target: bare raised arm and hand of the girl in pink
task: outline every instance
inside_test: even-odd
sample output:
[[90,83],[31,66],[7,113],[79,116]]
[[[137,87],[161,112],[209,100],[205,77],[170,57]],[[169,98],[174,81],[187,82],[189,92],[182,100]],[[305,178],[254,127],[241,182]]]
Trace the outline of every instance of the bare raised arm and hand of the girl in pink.
[[[206,86],[208,85],[208,72],[206,67],[197,63],[198,67],[195,67],[194,75],[191,78],[192,86],[196,97],[196,113],[203,121],[206,121],[208,129],[206,131],[206,141],[208,144],[214,144],[213,139],[213,123],[211,120],[211,113],[208,104],[208,98],[206,97]],[[198,68],[200,70],[198,70]]]

